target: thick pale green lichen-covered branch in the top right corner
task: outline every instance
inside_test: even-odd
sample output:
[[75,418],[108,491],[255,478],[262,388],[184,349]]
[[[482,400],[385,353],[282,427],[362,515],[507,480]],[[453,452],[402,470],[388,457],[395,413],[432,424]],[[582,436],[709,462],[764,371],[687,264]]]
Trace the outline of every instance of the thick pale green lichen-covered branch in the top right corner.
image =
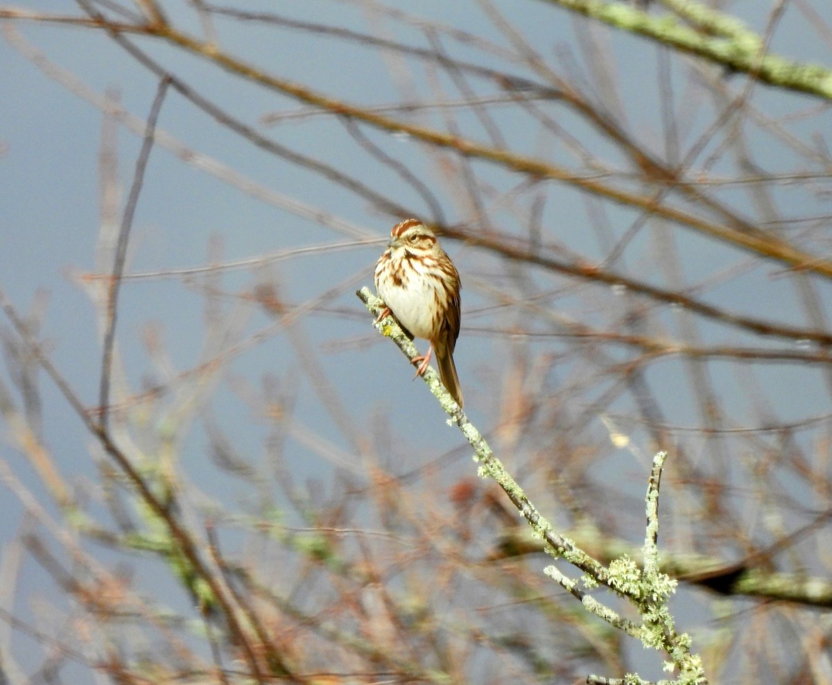
[[[602,0],[544,0],[610,26],[660,42],[662,45],[744,72],[770,86],[832,99],[832,71],[815,64],[793,62],[778,55],[760,57],[764,42],[735,17],[693,0],[662,0],[697,27],[669,15],[654,16],[631,2]],[[709,35],[708,32],[717,35]]]

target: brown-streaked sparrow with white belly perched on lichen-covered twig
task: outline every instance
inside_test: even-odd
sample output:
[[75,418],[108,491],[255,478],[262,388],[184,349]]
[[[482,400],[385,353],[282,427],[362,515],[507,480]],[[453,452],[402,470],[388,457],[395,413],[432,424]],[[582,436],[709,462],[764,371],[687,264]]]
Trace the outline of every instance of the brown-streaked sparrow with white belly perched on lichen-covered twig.
[[459,335],[459,273],[453,261],[427,226],[407,219],[393,227],[387,250],[375,265],[375,290],[386,309],[399,320],[412,338],[430,342],[428,354],[420,361],[416,375],[424,373],[430,355],[436,352],[439,378],[448,392],[463,405],[453,348]]

